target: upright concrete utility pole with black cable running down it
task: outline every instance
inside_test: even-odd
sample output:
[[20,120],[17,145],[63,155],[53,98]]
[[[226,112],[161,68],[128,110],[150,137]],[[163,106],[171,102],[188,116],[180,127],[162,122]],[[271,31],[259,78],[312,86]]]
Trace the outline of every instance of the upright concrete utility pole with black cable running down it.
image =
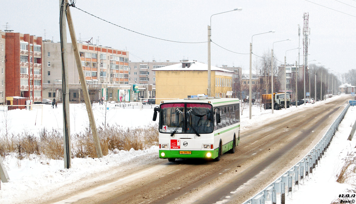
[[[69,83],[68,83],[68,64],[67,64],[67,26],[66,9],[68,2],[59,0],[59,12],[61,15],[61,42],[62,42],[62,90],[63,90],[63,148],[64,148],[64,168],[70,168],[71,165],[71,147],[70,147],[70,115],[69,115]],[[76,41],[74,41],[76,42]]]

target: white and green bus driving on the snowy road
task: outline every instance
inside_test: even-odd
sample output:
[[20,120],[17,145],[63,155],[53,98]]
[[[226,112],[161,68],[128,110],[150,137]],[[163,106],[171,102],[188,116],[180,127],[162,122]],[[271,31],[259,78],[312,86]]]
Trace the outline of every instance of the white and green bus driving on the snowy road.
[[240,142],[239,99],[220,97],[161,101],[159,112],[159,157],[220,160],[234,153]]

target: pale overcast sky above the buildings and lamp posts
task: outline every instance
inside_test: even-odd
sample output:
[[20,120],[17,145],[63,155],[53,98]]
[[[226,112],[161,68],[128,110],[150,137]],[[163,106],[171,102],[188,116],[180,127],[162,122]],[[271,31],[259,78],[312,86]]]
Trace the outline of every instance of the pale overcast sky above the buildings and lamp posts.
[[[271,52],[273,42],[291,38],[292,41],[274,43],[274,56],[281,62],[284,62],[286,50],[299,46],[298,24],[302,30],[303,14],[308,12],[308,61],[316,59],[309,63],[320,62],[339,73],[355,68],[356,64],[355,0],[77,0],[75,6],[127,29],[182,42],[206,42],[211,15],[242,8],[242,11],[212,17],[211,40],[231,51],[249,53],[252,35],[274,30],[275,33],[253,37],[253,53],[262,56]],[[1,0],[0,8],[1,30],[5,30],[8,22],[15,32],[44,38],[46,30],[46,39],[59,41],[58,0]],[[92,42],[96,44],[99,38],[99,45],[129,51],[132,62],[151,62],[153,59],[157,62],[181,59],[208,62],[207,43],[157,40],[116,27],[73,7],[70,10],[78,40],[80,37],[88,41],[93,37]],[[69,42],[69,33],[67,38]],[[303,36],[300,37],[300,47],[303,47],[302,39]],[[303,49],[300,49],[300,55],[303,55]],[[297,57],[298,49],[288,51],[287,63],[294,63]],[[260,58],[253,56],[252,59],[255,63]],[[213,66],[224,64],[248,69],[249,61],[249,54],[232,53],[211,43]],[[303,57],[300,57],[302,62]]]

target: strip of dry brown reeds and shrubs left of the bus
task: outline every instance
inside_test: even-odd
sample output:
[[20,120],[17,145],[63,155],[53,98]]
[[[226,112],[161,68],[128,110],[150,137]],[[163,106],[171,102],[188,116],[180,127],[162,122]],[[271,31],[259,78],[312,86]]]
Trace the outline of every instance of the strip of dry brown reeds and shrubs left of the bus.
[[[98,128],[103,155],[109,150],[144,150],[152,145],[158,145],[157,125],[124,128],[119,125],[107,125]],[[72,157],[95,158],[96,149],[93,136],[88,130],[72,135]],[[0,155],[2,157],[16,153],[19,159],[30,154],[43,155],[50,159],[63,159],[63,132],[52,129],[42,129],[39,137],[22,132],[21,134],[0,137]]]

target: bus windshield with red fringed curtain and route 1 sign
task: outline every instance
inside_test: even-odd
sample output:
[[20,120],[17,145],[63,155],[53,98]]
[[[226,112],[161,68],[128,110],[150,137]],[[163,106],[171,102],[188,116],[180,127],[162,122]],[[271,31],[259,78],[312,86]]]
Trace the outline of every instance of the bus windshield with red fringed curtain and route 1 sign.
[[159,132],[208,134],[214,130],[213,106],[199,103],[161,104]]

